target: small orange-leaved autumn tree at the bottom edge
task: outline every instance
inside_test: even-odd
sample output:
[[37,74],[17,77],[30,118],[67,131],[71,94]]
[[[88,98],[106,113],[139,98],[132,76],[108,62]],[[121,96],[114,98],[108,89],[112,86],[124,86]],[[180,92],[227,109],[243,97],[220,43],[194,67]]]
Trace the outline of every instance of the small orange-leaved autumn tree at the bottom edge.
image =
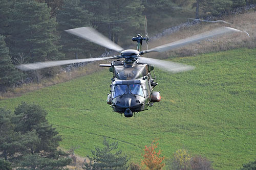
[[158,145],[158,143],[156,142],[157,139],[152,140],[151,146],[145,146],[145,153],[144,155],[142,154],[144,159],[142,160],[141,164],[142,166],[145,165],[146,169],[162,169],[162,167],[164,167],[165,165],[164,163],[162,163],[162,161],[164,160],[164,156],[160,156],[161,150],[159,150],[158,153],[156,153],[155,151]]

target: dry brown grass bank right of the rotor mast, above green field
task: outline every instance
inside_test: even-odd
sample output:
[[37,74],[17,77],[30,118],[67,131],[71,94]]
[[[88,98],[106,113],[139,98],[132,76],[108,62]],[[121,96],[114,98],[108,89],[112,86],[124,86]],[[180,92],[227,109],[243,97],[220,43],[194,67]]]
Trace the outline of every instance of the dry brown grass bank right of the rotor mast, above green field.
[[183,38],[187,38],[199,33],[203,33],[209,30],[212,30],[217,27],[231,27],[235,29],[239,29],[241,31],[246,31],[250,37],[246,35],[246,33],[239,34],[229,34],[225,36],[221,36],[218,38],[210,38],[197,43],[193,43],[190,45],[186,45],[184,47],[180,47],[175,49],[174,51],[169,51],[166,53],[151,55],[151,57],[162,57],[166,58],[166,56],[172,57],[180,57],[180,56],[193,56],[198,54],[210,53],[210,52],[221,52],[226,50],[232,50],[236,48],[255,48],[256,47],[256,11],[249,10],[245,13],[238,15],[228,15],[222,16],[221,18],[216,18],[212,20],[225,20],[230,23],[226,24],[223,22],[211,23],[211,22],[201,22],[196,25],[186,27],[184,29],[180,29],[179,31],[172,34],[165,34],[158,39],[152,40],[149,43],[149,48],[155,47],[158,45],[162,45],[168,42],[177,41]]

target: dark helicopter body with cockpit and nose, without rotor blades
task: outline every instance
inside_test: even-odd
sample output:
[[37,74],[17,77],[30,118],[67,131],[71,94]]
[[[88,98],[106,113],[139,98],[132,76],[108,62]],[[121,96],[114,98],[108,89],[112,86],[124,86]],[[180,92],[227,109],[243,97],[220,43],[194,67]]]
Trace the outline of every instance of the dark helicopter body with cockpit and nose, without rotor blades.
[[160,102],[160,92],[153,91],[157,85],[151,76],[153,69],[153,65],[138,63],[136,58],[111,63],[113,78],[107,103],[115,112],[132,117],[135,112],[147,110],[154,102]]

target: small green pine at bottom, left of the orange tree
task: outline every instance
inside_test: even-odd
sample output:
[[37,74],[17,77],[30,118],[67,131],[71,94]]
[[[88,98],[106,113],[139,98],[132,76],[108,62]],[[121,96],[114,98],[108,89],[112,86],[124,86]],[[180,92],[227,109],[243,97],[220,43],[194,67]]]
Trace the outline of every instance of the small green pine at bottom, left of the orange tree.
[[127,169],[127,156],[122,156],[122,150],[117,147],[118,142],[109,143],[104,137],[104,148],[95,147],[96,151],[92,151],[93,158],[89,157],[90,163],[86,163],[84,169]]

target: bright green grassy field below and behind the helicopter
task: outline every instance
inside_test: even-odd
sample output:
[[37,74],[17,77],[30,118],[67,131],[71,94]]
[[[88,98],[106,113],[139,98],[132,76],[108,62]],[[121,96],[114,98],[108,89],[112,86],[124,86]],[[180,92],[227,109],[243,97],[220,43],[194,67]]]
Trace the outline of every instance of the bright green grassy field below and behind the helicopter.
[[256,158],[256,49],[238,49],[173,61],[193,71],[156,69],[162,101],[132,118],[112,112],[106,100],[108,70],[0,101],[14,109],[21,101],[45,108],[63,137],[60,146],[79,147],[81,156],[101,146],[102,136],[140,162],[144,145],[159,138],[166,157],[178,149],[206,156],[218,169],[233,169]]

